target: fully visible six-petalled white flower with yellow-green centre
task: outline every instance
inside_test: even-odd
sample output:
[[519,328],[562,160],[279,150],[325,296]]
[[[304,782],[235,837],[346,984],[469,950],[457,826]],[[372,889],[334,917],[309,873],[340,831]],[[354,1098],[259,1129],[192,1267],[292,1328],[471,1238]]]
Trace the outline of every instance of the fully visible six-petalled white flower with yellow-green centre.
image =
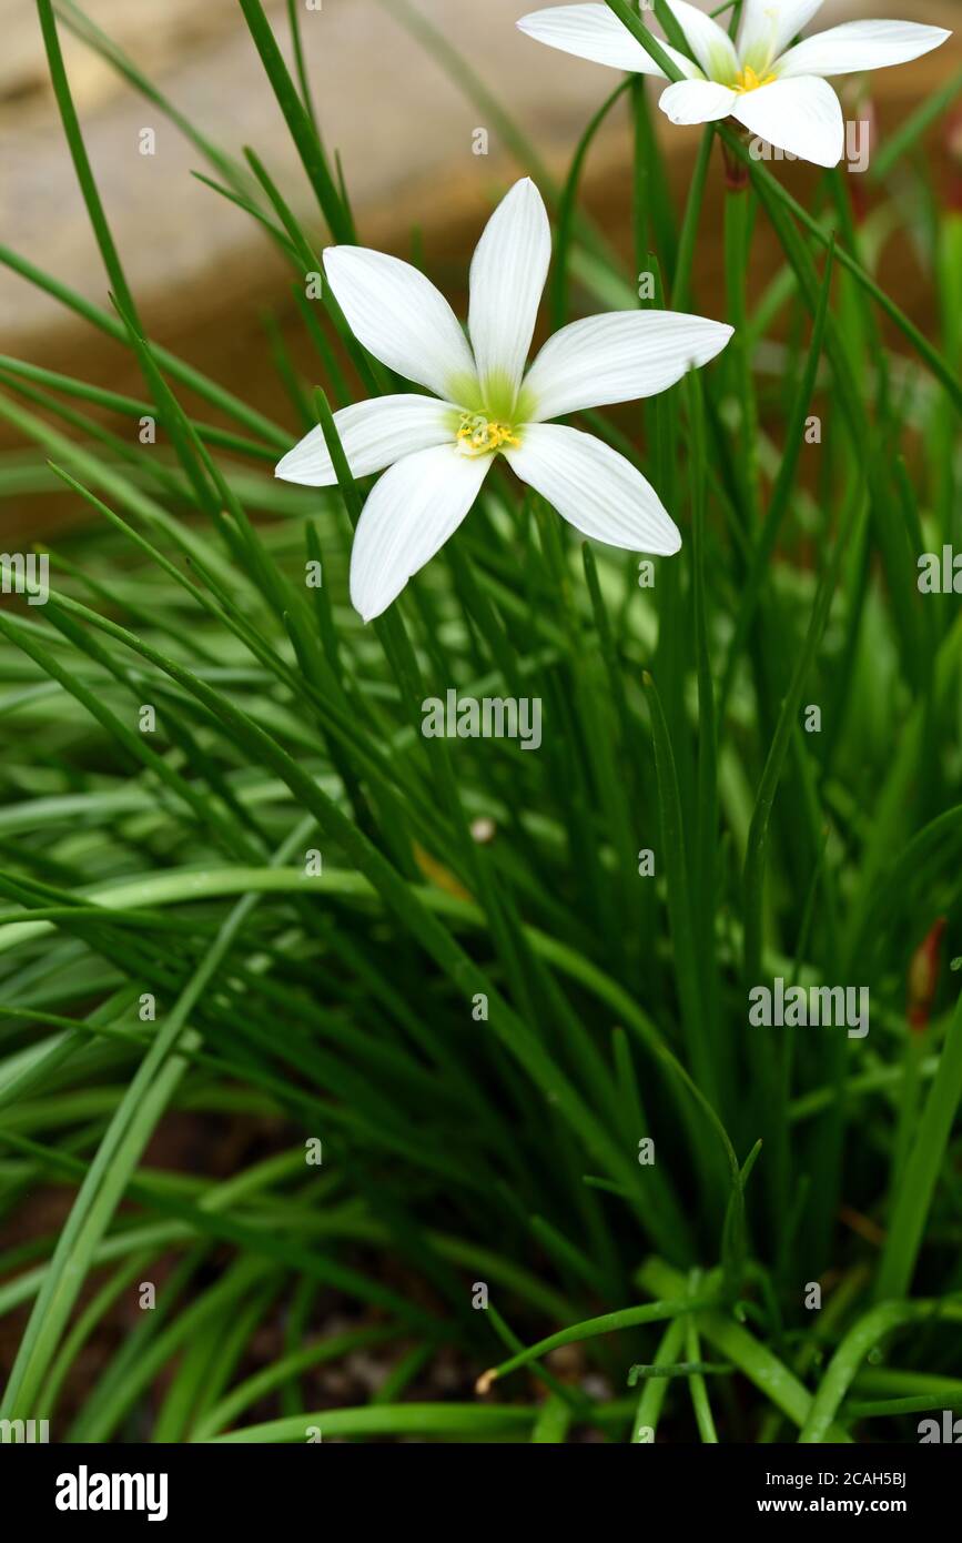
[[[652,397],[720,353],[732,329],[664,310],[612,312],[563,327],[524,373],[549,261],[547,213],[524,179],[478,242],[469,344],[418,268],[365,247],[324,253],[358,341],[435,392],[335,414],[355,477],[390,468],[364,506],[352,551],[350,594],[365,622],[453,535],[495,455],[583,535],[629,551],[678,551],[681,537],[641,472],[594,435],[547,420]],[[278,477],[310,488],[336,481],[321,427],[284,457]]]

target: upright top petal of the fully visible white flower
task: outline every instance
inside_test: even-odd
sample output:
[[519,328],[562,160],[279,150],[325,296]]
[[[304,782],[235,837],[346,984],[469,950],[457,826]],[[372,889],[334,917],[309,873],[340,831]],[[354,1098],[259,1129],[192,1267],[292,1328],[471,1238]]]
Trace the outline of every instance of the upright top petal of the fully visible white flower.
[[[484,227],[470,272],[470,333],[483,400],[509,417],[550,262],[550,225],[530,177],[515,182]],[[500,398],[510,400],[501,404]]]

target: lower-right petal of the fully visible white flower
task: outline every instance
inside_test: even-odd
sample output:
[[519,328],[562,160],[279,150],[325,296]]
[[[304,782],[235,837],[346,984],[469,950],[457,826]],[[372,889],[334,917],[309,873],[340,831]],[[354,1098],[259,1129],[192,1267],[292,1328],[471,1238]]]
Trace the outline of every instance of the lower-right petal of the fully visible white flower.
[[681,535],[651,483],[594,434],[558,423],[532,423],[524,427],[518,449],[504,455],[521,481],[583,535],[632,552],[671,555],[681,546]]

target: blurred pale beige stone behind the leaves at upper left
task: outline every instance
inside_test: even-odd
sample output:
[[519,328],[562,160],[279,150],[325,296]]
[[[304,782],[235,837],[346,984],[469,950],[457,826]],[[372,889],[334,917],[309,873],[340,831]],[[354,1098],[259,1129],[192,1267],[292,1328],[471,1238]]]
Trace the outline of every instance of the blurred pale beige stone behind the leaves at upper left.
[[[325,137],[341,150],[365,239],[402,242],[415,222],[444,228],[486,204],[510,174],[510,157],[495,125],[486,123],[490,114],[466,102],[399,23],[396,0],[322,0],[321,11],[299,3]],[[419,0],[419,8],[470,57],[541,154],[561,165],[615,73],[521,37],[513,23],[524,0],[486,0],[481,9],[469,0]],[[267,9],[287,39],[285,6],[268,0]],[[831,22],[860,9],[828,3],[823,14]],[[945,0],[925,0],[927,17],[937,11],[945,11]],[[254,145],[299,211],[310,213],[310,193],[236,0],[165,0],[160,6],[88,0],[88,12],[205,133],[234,153]],[[250,221],[191,177],[194,168],[210,170],[197,150],[66,28],[62,34],[89,156],[146,312],[166,327],[176,326],[177,312],[196,295],[220,292],[233,304],[234,292],[267,292],[268,273],[278,268]],[[65,154],[32,6],[0,0],[0,35],[3,239],[102,299],[100,261]],[[937,68],[944,76],[948,57]],[[927,73],[920,65],[894,74],[919,82]],[[157,134],[154,156],[139,153],[145,127]],[[489,157],[472,156],[476,127],[490,130]],[[612,127],[600,140],[598,160],[620,140],[623,134]],[[0,327],[11,352],[25,352],[59,321],[52,302],[0,275]]]

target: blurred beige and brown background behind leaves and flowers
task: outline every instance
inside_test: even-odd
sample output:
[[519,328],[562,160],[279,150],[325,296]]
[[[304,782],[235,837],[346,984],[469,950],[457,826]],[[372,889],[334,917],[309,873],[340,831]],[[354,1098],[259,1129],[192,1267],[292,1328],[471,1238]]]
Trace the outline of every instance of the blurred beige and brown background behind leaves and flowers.
[[[361,239],[424,261],[452,299],[464,282],[464,261],[498,191],[520,171],[500,133],[495,106],[472,100],[439,57],[455,48],[530,139],[543,167],[561,176],[592,113],[618,83],[615,71],[570,59],[523,37],[515,20],[527,0],[299,0],[304,48],[318,116],[328,150],[338,151]],[[701,0],[705,9],[714,0]],[[290,42],[287,5],[267,0],[271,25]],[[826,0],[819,26],[859,15],[957,26],[959,0]],[[187,137],[145,100],[111,63],[69,31],[77,12],[59,6],[62,43],[77,111],[114,238],[151,335],[202,367],[251,404],[287,423],[278,376],[262,367],[262,315],[274,313],[294,358],[310,378],[302,327],[290,296],[290,275],[254,221],[204,187],[193,171],[211,168]],[[310,221],[311,194],[262,73],[236,0],[86,0],[86,17],[180,108],[187,119],[231,154],[253,145]],[[426,34],[430,31],[432,39]],[[0,227],[3,241],[71,289],[106,304],[106,282],[77,190],[48,82],[34,8],[0,0]],[[288,51],[290,57],[290,51]],[[953,39],[913,65],[877,71],[873,111],[882,136],[962,65]],[[649,89],[657,91],[652,82]],[[860,83],[849,77],[846,91]],[[865,105],[849,99],[848,116]],[[681,202],[700,131],[678,130],[655,114]],[[475,154],[486,128],[489,153]],[[154,131],[154,153],[142,154],[142,131]],[[930,142],[945,160],[948,147]],[[587,205],[610,239],[631,255],[631,125],[618,103],[586,168]],[[805,193],[809,170],[780,168]],[[720,168],[711,179],[695,265],[698,309],[723,313]],[[316,247],[324,244],[321,222]],[[757,244],[758,281],[775,253]],[[930,284],[911,250],[883,256],[885,287],[919,324],[927,324]],[[0,268],[0,352],[137,393],[130,358],[71,316],[49,296]],[[293,424],[291,424],[293,429]],[[9,447],[0,435],[0,447]],[[85,517],[63,494],[31,498],[29,515],[8,506],[0,528],[12,534],[29,518],[32,531]]]

